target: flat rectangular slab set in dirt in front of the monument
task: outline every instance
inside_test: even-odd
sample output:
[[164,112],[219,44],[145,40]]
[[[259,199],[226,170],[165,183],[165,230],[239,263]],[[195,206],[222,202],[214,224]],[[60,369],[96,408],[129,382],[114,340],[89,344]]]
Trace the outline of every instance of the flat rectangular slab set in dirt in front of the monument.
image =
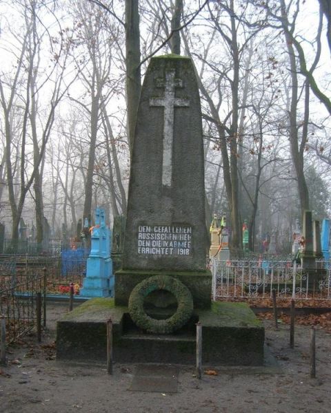
[[138,365],[128,390],[135,392],[177,393],[179,370],[176,366]]

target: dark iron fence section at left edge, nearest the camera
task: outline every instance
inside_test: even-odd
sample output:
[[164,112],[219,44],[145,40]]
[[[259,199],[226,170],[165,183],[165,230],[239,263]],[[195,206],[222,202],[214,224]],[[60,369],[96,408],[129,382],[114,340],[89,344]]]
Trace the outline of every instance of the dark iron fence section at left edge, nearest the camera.
[[36,297],[42,293],[46,321],[45,277],[36,273],[1,275],[0,315],[6,319],[6,343],[12,343],[36,326]]

